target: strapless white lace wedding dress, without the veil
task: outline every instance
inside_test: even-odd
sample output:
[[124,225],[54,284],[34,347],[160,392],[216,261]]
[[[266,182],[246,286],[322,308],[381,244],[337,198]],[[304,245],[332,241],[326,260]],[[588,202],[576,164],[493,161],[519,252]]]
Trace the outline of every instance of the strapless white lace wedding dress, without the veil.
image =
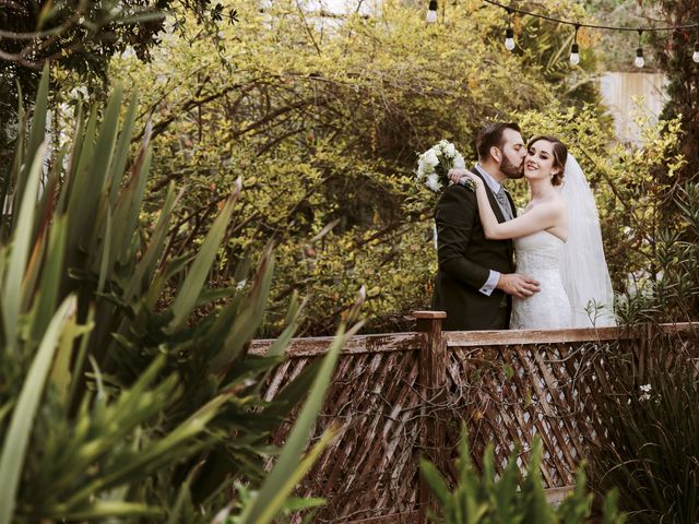
[[565,245],[548,231],[514,239],[517,272],[538,281],[541,291],[513,298],[511,330],[571,327],[570,301],[560,273]]

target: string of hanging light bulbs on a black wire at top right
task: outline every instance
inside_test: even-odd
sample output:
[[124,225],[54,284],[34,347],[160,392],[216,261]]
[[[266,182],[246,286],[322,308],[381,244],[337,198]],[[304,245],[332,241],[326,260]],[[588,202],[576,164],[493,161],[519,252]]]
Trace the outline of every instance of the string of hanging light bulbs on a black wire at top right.
[[[581,22],[571,22],[569,20],[556,19],[554,16],[548,16],[540,13],[532,13],[530,11],[524,11],[522,9],[512,8],[510,5],[503,5],[496,0],[483,0],[486,3],[491,5],[496,5],[501,8],[507,13],[507,29],[505,29],[505,48],[508,51],[512,51],[514,49],[514,29],[512,28],[512,13],[523,14],[528,16],[533,16],[535,19],[547,20],[549,22],[555,22],[557,24],[570,25],[574,28],[576,33],[573,36],[573,43],[570,49],[570,63],[577,66],[580,63],[580,46],[578,45],[578,31],[580,27],[588,27],[591,29],[601,29],[601,31],[635,31],[638,33],[638,47],[636,49],[636,59],[633,60],[633,66],[637,68],[643,68],[645,66],[645,59],[643,58],[643,33],[644,32],[661,32],[661,31],[675,31],[675,29],[695,29],[697,32],[697,37],[694,46],[694,53],[691,55],[691,59],[699,63],[699,23],[695,24],[686,24],[686,25],[673,25],[673,26],[662,26],[662,27],[628,27],[628,26],[614,26],[614,25],[599,25],[599,24],[584,24]],[[439,5],[437,0],[429,0],[429,10],[427,11],[427,22],[435,23],[437,22],[437,10]]]

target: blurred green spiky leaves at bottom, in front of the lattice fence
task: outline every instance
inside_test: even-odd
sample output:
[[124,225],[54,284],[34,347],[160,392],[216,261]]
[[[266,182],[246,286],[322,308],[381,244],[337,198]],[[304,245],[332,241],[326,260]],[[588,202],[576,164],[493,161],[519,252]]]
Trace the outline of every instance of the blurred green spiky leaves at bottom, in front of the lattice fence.
[[[557,508],[546,501],[542,483],[541,439],[534,441],[528,474],[523,480],[517,464],[517,450],[500,475],[496,474],[493,445],[483,455],[483,472],[478,473],[471,460],[465,428],[459,443],[458,479],[450,490],[436,467],[420,460],[420,472],[438,503],[433,522],[448,524],[582,524],[590,516],[592,495],[585,489],[583,467],[578,469],[576,489]],[[623,524],[625,515],[617,511],[617,493],[606,498],[602,521]]]

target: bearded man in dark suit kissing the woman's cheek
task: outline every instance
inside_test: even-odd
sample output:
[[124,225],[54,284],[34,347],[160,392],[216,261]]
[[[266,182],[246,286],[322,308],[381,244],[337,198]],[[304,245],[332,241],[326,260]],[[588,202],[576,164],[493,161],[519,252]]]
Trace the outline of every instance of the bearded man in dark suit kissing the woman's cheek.
[[[476,150],[478,163],[472,171],[484,180],[498,222],[513,218],[514,204],[501,183],[508,178],[522,178],[526,147],[519,126],[486,126],[478,133]],[[460,184],[445,190],[435,210],[435,222],[439,270],[433,309],[447,312],[442,327],[507,330],[511,296],[526,298],[540,290],[536,281],[514,273],[512,241],[485,238],[476,194]]]

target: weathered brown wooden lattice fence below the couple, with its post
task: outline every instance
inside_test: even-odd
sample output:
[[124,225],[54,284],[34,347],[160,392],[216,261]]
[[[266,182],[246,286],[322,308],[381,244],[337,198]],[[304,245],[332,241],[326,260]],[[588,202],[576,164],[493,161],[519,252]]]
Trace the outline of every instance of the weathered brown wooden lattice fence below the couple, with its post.
[[[415,332],[354,336],[342,350],[315,431],[317,439],[334,425],[339,437],[297,491],[325,499],[315,522],[426,522],[433,501],[418,457],[453,478],[462,424],[474,461],[490,443],[497,467],[516,444],[523,466],[538,436],[543,479],[556,499],[571,488],[587,446],[604,436],[596,413],[601,395],[615,394],[616,382],[642,383],[650,341],[659,340],[657,330],[616,327],[442,332],[443,313],[415,317]],[[660,331],[692,329],[673,324]],[[265,397],[322,357],[331,342],[294,340]],[[250,352],[264,354],[271,343],[254,341]],[[628,361],[608,358],[620,350]],[[289,427],[275,443],[284,442]]]

